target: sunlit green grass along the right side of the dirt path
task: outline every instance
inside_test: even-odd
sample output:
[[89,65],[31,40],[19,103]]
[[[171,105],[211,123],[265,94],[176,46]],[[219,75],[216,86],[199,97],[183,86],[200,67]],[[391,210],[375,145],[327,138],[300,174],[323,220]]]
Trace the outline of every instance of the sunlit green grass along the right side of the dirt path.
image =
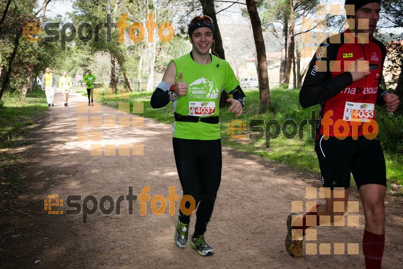
[[[85,88],[77,88],[75,90],[82,95],[87,96]],[[273,88],[270,93],[272,104],[271,109],[266,113],[259,112],[259,92],[257,89],[245,90],[247,101],[246,106],[244,107],[244,112],[240,117],[236,118],[232,113],[229,113],[226,108],[220,109],[222,144],[228,145],[236,150],[251,152],[252,154],[262,157],[267,163],[282,163],[290,167],[305,169],[311,177],[314,177],[314,175],[319,176],[319,164],[317,162],[316,153],[313,150],[314,139],[311,137],[311,126],[303,124],[304,120],[309,120],[311,118],[316,121],[319,114],[319,106],[302,109],[298,103],[299,89],[290,90],[284,88]],[[152,92],[149,91],[135,91],[130,92],[128,99],[119,99],[118,92],[116,92],[115,99],[103,98],[102,100],[96,101],[101,101],[102,104],[114,107],[115,109],[118,109],[119,102],[129,102],[130,112],[132,112],[133,102],[143,102],[144,113],[137,115],[172,124],[174,122],[173,106],[168,104],[161,109],[155,110],[150,105],[151,95]],[[314,117],[311,116],[312,113],[314,113]],[[383,116],[384,114],[381,114],[381,117]],[[264,139],[264,136],[260,139],[235,139],[231,138],[231,135],[227,133],[227,125],[231,124],[232,120],[242,120],[242,123],[246,123],[246,131],[238,130],[234,131],[234,134],[243,134],[246,135],[246,137],[249,137],[249,134],[251,133],[249,122],[256,119],[263,120],[264,124],[259,125],[263,130],[268,121],[276,120],[280,123],[282,132],[278,137],[270,140]],[[289,120],[293,120],[297,127],[297,134],[292,139],[286,138],[283,134],[283,124]],[[303,127],[300,128],[300,126]],[[302,129],[302,138],[299,138],[300,129]],[[276,132],[274,126],[272,126],[270,130],[272,133]],[[293,131],[290,126],[288,126],[286,130],[289,133]],[[379,133],[381,136],[381,127]],[[385,139],[383,139],[383,141],[385,141]],[[268,144],[270,145],[267,146]],[[391,194],[403,195],[403,154],[398,152],[388,152],[386,150],[384,150],[384,154],[386,160],[386,176],[388,179],[387,189]],[[355,185],[354,180],[351,182]]]

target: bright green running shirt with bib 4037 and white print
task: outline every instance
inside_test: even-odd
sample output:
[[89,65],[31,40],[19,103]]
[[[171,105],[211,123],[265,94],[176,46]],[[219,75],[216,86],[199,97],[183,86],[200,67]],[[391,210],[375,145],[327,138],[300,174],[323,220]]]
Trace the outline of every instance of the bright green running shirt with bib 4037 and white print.
[[[171,62],[176,66],[175,81],[182,73],[182,82],[187,82],[188,87],[187,94],[173,102],[175,112],[180,115],[218,116],[221,92],[230,92],[239,85],[230,65],[214,55],[208,65],[197,64],[190,53]],[[220,124],[174,122],[172,135],[183,139],[220,139]]]

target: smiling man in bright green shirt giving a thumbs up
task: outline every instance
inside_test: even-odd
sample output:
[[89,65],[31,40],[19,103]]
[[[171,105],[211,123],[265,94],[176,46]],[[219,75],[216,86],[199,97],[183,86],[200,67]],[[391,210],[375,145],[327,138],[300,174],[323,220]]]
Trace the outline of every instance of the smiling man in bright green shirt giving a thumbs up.
[[[211,55],[214,26],[208,16],[194,17],[188,26],[192,50],[172,60],[151,97],[154,109],[174,106],[173,151],[183,195],[194,199],[196,223],[191,239],[190,216],[179,209],[174,240],[179,248],[189,245],[201,256],[214,253],[204,238],[221,182],[222,154],[219,101],[225,90],[233,98],[228,111],[240,116],[244,97],[228,62]],[[185,203],[186,209],[190,208]],[[183,211],[182,211],[183,210]],[[189,211],[187,211],[189,212]]]

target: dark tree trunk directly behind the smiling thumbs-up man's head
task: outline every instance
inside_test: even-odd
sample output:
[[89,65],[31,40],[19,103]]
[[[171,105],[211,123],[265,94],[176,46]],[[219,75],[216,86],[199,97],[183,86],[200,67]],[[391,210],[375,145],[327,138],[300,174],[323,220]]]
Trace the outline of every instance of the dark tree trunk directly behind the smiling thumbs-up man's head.
[[[221,39],[220,28],[218,27],[216,9],[214,7],[213,0],[200,0],[201,8],[203,8],[203,14],[209,16],[213,20],[214,25],[214,51],[212,49],[212,54],[214,53],[220,59],[225,60],[224,46],[223,40]],[[222,91],[219,107],[228,106],[227,102],[228,94],[225,91]]]

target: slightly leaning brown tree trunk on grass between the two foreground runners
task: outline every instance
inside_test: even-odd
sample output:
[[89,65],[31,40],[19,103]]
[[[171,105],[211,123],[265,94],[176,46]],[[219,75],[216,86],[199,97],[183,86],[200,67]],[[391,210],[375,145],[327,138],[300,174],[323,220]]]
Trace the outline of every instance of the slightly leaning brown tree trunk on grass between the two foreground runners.
[[252,24],[253,38],[256,46],[257,67],[259,78],[259,104],[261,112],[266,111],[270,106],[270,89],[268,87],[266,49],[264,47],[263,34],[259,14],[254,0],[246,0],[250,22]]

